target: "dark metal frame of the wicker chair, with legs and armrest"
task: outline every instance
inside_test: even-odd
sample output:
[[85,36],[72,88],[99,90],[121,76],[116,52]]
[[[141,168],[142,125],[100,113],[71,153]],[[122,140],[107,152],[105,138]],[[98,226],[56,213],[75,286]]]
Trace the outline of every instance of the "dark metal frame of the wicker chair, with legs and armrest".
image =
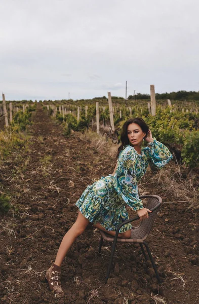
[[[148,208],[150,211],[152,211],[152,212],[148,212],[148,213],[149,213],[149,217],[152,215],[152,213],[154,213],[154,211],[156,211],[155,214],[153,214],[153,219],[152,219],[152,224],[153,224],[153,221],[154,221],[154,219],[155,219],[155,217],[156,217],[156,213],[157,213],[158,209],[160,208],[160,206],[161,206],[161,204],[162,204],[162,198],[159,197],[159,196],[156,196],[156,195],[145,195],[145,196],[141,196],[141,197],[140,197],[140,199],[145,199],[145,198],[149,198],[149,199],[150,199],[150,198],[153,198],[153,199],[155,198],[155,199],[157,199],[157,201],[158,201],[158,203],[157,203],[157,205],[156,205],[155,207],[153,207],[153,208],[151,208],[151,209]],[[147,205],[146,205],[146,208],[147,208]],[[114,237],[112,237],[112,236],[110,236],[110,235],[108,235],[108,234],[105,234],[103,231],[100,231],[100,230],[99,230],[99,232],[100,232],[100,234],[101,234],[101,239],[100,239],[100,242],[99,242],[99,249],[98,249],[98,252],[101,253],[101,248],[102,248],[102,244],[103,244],[103,241],[104,241],[104,240],[107,241],[107,242],[109,242],[109,243],[112,243],[112,246],[111,246],[111,247],[112,247],[112,250],[111,250],[110,260],[109,260],[109,264],[108,264],[108,270],[107,270],[107,275],[106,275],[105,283],[107,283],[107,280],[108,280],[109,275],[110,275],[110,271],[111,271],[111,267],[112,267],[112,261],[113,261],[113,256],[114,256],[114,252],[115,252],[116,243],[117,243],[118,241],[121,242],[121,241],[120,241],[121,239],[118,238],[119,231],[120,231],[120,229],[121,229],[121,227],[122,227],[123,225],[125,225],[125,224],[127,224],[127,223],[130,223],[130,222],[133,222],[133,221],[135,221],[135,220],[137,220],[137,219],[139,219],[139,216],[138,216],[138,215],[137,215],[136,217],[134,217],[134,218],[127,219],[127,220],[125,220],[124,222],[122,222],[120,225],[118,225]],[[148,218],[145,219],[145,221],[147,221],[147,220],[148,220]],[[140,225],[141,225],[141,224],[142,224],[142,222],[140,223]],[[151,224],[151,227],[152,227],[152,224]],[[135,229],[138,229],[138,228],[140,227],[140,225],[139,225],[138,227],[136,227]],[[148,234],[150,233],[151,227],[150,227],[150,229],[149,229],[149,231],[148,231]],[[144,255],[145,260],[147,260],[147,256],[146,256],[146,252],[144,251],[144,246],[146,247],[146,250],[147,250],[148,256],[149,256],[149,258],[150,258],[150,261],[151,261],[153,270],[154,270],[154,272],[155,272],[155,276],[156,276],[156,278],[157,278],[157,281],[158,281],[158,283],[161,283],[161,279],[160,279],[160,276],[158,275],[157,268],[156,268],[155,262],[154,262],[154,260],[153,260],[153,257],[152,257],[152,255],[151,255],[150,249],[149,249],[149,247],[148,247],[148,244],[145,242],[145,239],[147,238],[148,234],[147,234],[146,236],[144,236],[143,238],[141,238],[140,240],[123,239],[122,242],[123,242],[123,243],[124,243],[124,242],[125,242],[125,243],[126,243],[126,242],[127,242],[127,243],[139,243],[139,244],[140,244],[140,247],[141,247],[141,250],[142,250],[142,253],[143,253],[143,255]],[[108,239],[111,239],[111,238],[112,238],[112,240],[106,240],[106,239],[107,239],[107,236],[108,236]],[[125,241],[124,241],[124,240],[125,240]],[[143,246],[143,245],[144,245],[144,246]]]

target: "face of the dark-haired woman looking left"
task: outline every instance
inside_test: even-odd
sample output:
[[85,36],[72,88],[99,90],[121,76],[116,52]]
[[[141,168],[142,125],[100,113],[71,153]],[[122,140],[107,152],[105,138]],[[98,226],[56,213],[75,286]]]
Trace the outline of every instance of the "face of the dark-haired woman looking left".
[[132,123],[128,126],[127,134],[132,145],[141,145],[143,137],[146,135],[139,125]]

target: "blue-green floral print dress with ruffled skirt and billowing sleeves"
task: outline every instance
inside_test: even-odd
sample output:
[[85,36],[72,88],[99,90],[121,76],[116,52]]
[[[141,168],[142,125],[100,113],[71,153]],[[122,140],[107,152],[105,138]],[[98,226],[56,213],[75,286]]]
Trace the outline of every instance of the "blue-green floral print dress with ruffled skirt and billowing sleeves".
[[[101,177],[89,185],[75,205],[90,222],[100,223],[107,231],[116,231],[118,224],[129,218],[126,204],[135,211],[144,208],[137,182],[146,173],[148,164],[163,168],[171,159],[169,149],[155,138],[141,149],[141,154],[126,145],[118,157],[114,175]],[[131,223],[125,224],[120,233],[131,227]]]

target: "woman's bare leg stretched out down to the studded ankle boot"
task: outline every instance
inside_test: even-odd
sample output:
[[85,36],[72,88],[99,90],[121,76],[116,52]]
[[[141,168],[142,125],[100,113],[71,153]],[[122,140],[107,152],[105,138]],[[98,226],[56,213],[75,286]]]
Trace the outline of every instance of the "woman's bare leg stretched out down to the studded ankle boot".
[[78,212],[77,219],[72,227],[68,230],[65,236],[62,239],[62,242],[59,246],[57,256],[55,259],[55,264],[61,266],[61,263],[66,256],[66,253],[70,249],[71,245],[75,239],[80,236],[86,229],[89,220],[82,215],[81,212]]

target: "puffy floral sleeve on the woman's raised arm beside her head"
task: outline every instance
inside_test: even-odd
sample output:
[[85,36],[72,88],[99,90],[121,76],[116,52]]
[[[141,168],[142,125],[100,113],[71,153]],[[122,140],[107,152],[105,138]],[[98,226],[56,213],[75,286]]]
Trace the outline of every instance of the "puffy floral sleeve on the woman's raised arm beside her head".
[[169,149],[162,143],[153,138],[147,146],[149,162],[156,168],[163,168],[173,158]]

